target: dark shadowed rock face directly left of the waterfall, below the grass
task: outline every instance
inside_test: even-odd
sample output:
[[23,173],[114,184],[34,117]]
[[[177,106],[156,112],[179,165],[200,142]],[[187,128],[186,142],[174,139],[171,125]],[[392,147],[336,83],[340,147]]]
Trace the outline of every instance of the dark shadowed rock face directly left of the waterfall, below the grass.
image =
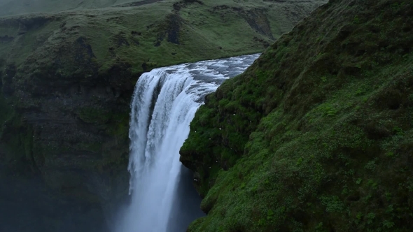
[[[0,158],[9,175],[29,178],[11,183],[34,182],[26,195],[32,192],[43,199],[34,202],[34,208],[51,205],[44,212],[50,215],[57,208],[67,208],[66,215],[50,216],[61,224],[83,217],[99,222],[93,226],[79,221],[76,230],[66,231],[104,231],[97,229],[101,228],[97,224],[106,221],[103,213],[116,212],[116,202],[127,196],[129,103],[137,76],[128,72],[127,64],[97,73],[92,49],[82,37],[55,54],[52,64],[34,61],[23,65],[26,68],[8,64],[4,69],[1,103],[11,107],[3,115]],[[30,65],[39,68],[31,72]],[[12,184],[10,191],[20,192],[22,187],[17,185]],[[39,189],[50,192],[43,194]],[[25,211],[19,204],[25,201],[5,208]],[[75,205],[85,210],[78,212]],[[67,217],[73,219],[64,222]]]

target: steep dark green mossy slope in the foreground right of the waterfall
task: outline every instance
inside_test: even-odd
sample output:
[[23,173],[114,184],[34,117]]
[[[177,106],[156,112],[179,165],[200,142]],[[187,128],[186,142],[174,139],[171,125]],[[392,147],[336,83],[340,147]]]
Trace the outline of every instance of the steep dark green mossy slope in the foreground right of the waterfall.
[[331,0],[206,98],[188,231],[413,231],[413,3]]

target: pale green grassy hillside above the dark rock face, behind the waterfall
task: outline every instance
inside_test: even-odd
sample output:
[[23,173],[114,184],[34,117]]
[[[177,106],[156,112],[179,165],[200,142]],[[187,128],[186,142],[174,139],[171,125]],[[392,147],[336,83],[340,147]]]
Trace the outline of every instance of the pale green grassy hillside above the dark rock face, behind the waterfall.
[[[17,66],[26,62],[43,68],[59,57],[71,59],[76,46],[90,46],[90,62],[99,71],[127,64],[139,73],[186,61],[261,52],[323,2],[165,0],[4,17],[0,56]],[[68,70],[73,67],[66,59],[59,61]]]

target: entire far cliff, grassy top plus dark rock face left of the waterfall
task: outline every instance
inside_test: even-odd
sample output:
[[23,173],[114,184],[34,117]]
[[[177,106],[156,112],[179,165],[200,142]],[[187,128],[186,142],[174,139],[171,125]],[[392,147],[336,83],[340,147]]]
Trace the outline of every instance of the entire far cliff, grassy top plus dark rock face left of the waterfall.
[[[127,195],[130,99],[142,72],[262,52],[325,1],[85,1],[67,10],[74,2],[36,1],[22,13],[41,3],[48,13],[0,18],[0,182],[15,184],[0,194],[26,198],[13,193],[36,177],[38,195],[57,200],[36,220],[49,231],[73,231],[61,223],[72,217],[76,231],[90,231],[80,224],[100,226]],[[1,14],[20,8],[8,6]],[[55,213],[69,202],[80,208]]]

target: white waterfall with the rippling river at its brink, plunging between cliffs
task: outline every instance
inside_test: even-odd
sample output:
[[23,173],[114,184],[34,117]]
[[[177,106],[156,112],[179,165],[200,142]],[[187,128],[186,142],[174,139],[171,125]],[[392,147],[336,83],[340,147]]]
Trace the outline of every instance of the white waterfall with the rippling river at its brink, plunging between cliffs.
[[[165,232],[176,201],[179,149],[205,95],[242,73],[258,55],[156,68],[141,75],[130,120],[132,203],[117,232]],[[183,196],[184,197],[184,196]],[[199,205],[197,206],[199,207]],[[178,232],[178,231],[172,231]]]

